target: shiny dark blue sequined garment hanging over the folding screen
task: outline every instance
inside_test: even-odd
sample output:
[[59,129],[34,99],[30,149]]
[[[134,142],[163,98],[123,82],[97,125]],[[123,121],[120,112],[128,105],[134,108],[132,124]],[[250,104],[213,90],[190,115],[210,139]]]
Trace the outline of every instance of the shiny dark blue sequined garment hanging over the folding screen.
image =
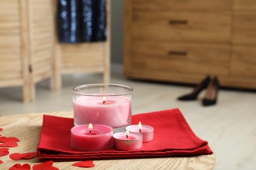
[[58,0],[57,18],[60,42],[106,41],[106,0]]

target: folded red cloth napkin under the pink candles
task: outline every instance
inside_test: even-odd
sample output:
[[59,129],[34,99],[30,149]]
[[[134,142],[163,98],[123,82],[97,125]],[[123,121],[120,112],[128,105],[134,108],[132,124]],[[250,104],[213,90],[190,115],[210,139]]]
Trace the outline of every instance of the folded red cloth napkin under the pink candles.
[[133,115],[132,124],[154,127],[154,140],[143,143],[140,150],[121,151],[110,148],[100,151],[80,151],[70,146],[72,118],[43,115],[41,138],[37,147],[40,161],[109,160],[125,158],[160,158],[196,156],[213,151],[197,137],[179,109]]

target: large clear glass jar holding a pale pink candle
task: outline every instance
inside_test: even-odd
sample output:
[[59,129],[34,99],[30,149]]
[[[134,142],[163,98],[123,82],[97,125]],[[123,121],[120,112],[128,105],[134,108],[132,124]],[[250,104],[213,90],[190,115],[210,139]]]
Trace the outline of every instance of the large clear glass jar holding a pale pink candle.
[[73,88],[74,126],[103,124],[115,132],[131,124],[133,88],[120,84],[85,84]]

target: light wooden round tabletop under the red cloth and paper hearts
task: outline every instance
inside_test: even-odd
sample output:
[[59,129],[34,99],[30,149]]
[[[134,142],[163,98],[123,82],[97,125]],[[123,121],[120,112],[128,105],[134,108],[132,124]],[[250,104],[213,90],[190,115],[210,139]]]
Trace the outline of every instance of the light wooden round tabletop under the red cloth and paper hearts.
[[[3,128],[0,134],[20,139],[17,147],[10,148],[10,154],[36,151],[41,133],[43,114],[73,117],[73,112],[45,112],[0,117],[0,127]],[[15,163],[21,163],[22,165],[29,163],[31,167],[39,163],[38,158],[14,161],[9,158],[9,155],[1,156],[0,160],[3,161],[0,164],[0,169],[9,169]],[[72,164],[74,162],[76,161],[54,162],[53,165],[58,169],[81,169],[81,167],[73,167]],[[91,169],[213,169],[215,166],[215,154],[175,158],[97,160],[94,163],[95,167]]]

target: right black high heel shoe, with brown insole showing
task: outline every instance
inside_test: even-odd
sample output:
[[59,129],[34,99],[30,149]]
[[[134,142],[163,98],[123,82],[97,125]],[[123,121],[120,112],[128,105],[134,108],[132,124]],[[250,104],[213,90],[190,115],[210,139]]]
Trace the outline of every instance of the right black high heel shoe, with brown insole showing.
[[207,86],[205,97],[203,98],[203,106],[215,105],[217,103],[217,95],[219,92],[219,80],[215,76]]

